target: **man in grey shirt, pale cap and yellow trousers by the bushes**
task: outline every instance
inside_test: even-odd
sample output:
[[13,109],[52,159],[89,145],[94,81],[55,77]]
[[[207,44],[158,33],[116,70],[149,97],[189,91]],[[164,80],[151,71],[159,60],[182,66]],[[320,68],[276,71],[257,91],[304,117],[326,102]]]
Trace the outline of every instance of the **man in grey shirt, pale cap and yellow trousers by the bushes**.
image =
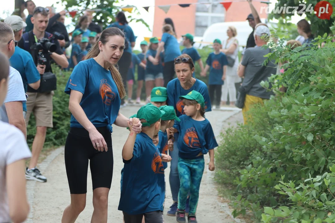
[[[238,75],[244,77],[242,87],[250,89],[247,92],[247,96],[242,109],[244,123],[247,123],[248,116],[246,112],[250,109],[250,106],[254,103],[263,103],[264,99],[270,99],[273,94],[261,86],[262,81],[268,81],[271,74],[276,74],[277,65],[275,60],[270,61],[266,66],[263,63],[266,59],[264,55],[270,52],[269,48],[263,46],[267,44],[270,37],[270,30],[264,23],[259,23],[255,27],[254,31],[256,47],[246,49],[243,60],[239,67]],[[251,83],[254,81],[254,84]],[[252,84],[252,86],[250,86]]]

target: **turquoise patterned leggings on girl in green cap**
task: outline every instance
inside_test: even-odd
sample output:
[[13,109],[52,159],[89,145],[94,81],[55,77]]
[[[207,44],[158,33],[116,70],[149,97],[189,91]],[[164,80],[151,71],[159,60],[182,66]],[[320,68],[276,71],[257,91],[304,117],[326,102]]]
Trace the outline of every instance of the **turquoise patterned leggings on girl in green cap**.
[[178,173],[180,189],[178,196],[178,209],[185,210],[186,199],[190,192],[190,211],[195,214],[199,200],[199,189],[202,175],[205,169],[205,159],[182,159],[178,160]]

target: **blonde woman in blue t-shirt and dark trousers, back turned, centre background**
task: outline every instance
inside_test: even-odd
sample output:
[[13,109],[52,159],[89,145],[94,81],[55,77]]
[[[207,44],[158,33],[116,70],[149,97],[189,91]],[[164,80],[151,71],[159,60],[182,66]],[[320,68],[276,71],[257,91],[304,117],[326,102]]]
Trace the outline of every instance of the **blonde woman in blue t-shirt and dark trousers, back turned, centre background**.
[[176,34],[170,24],[163,26],[163,36],[160,40],[157,48],[155,61],[158,64],[160,52],[164,49],[164,87],[171,81],[175,76],[174,60],[179,57],[182,52],[180,51],[179,43],[176,38]]

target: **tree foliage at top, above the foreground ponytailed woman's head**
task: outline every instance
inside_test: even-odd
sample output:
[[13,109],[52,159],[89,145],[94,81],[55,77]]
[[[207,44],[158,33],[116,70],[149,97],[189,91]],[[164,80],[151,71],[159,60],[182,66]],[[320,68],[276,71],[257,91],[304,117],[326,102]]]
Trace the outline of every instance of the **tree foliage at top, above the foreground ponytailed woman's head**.
[[[62,4],[65,5],[65,9],[68,11],[78,11],[77,15],[74,16],[73,22],[77,24],[79,17],[85,12],[85,10],[100,9],[93,13],[93,22],[97,22],[105,29],[108,25],[115,22],[115,16],[121,11],[121,8],[128,6],[116,6],[119,0],[61,0]],[[135,6],[133,7],[133,13],[140,14],[139,10]],[[149,28],[149,25],[143,19],[132,18],[128,16],[128,22],[136,21],[142,22]]]

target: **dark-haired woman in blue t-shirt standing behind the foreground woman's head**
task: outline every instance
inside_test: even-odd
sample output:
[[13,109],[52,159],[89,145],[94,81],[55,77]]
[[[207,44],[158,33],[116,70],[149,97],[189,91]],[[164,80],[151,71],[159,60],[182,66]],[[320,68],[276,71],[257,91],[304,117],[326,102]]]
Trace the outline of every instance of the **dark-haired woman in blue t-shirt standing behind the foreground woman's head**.
[[[132,47],[135,46],[135,35],[132,28],[128,25],[128,21],[124,12],[119,12],[116,15],[116,22],[110,24],[107,28],[117,27],[122,30],[125,34],[125,49],[120,59],[119,72],[121,74],[123,84],[126,86],[127,74],[131,64]],[[121,100],[121,105],[124,104],[124,100]]]

